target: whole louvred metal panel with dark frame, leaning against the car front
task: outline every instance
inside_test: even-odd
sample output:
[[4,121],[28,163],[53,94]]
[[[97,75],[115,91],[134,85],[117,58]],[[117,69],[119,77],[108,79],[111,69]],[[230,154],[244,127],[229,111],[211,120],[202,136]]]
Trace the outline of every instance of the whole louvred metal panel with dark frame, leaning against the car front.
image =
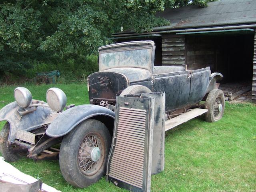
[[135,192],[150,192],[154,98],[117,97],[107,180]]

